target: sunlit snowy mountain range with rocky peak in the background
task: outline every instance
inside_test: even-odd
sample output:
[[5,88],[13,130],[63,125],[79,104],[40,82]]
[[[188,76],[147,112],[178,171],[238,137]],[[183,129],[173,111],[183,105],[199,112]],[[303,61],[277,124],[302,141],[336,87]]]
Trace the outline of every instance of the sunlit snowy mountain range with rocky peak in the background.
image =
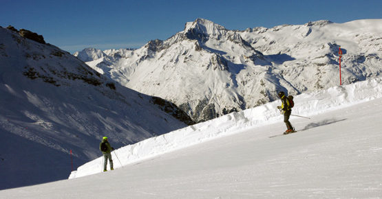
[[382,19],[226,30],[206,19],[140,49],[76,54],[87,65],[136,91],[174,102],[194,121],[381,74]]

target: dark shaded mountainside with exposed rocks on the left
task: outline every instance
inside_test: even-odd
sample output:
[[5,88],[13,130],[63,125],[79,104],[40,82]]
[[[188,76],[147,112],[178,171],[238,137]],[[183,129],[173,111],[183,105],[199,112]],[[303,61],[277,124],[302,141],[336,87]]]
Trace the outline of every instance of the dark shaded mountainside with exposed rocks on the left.
[[2,27],[0,104],[0,189],[67,178],[70,150],[75,168],[98,156],[103,136],[120,147],[187,126],[173,104]]

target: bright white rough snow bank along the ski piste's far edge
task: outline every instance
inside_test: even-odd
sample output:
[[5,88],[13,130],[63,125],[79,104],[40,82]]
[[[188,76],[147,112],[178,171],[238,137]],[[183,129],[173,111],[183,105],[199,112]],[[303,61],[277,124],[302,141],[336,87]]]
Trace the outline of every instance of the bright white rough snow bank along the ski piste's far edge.
[[[293,114],[312,116],[380,97],[382,97],[382,78],[374,78],[346,86],[335,86],[325,91],[297,95],[295,96]],[[162,134],[158,137],[146,139],[134,145],[127,145],[114,151],[118,156],[118,160],[114,157],[114,167],[121,167],[120,163],[128,165],[217,137],[235,134],[248,129],[248,126],[263,126],[280,121],[282,115],[279,115],[276,108],[279,103],[279,100],[277,100],[240,113],[231,113]],[[101,172],[102,161],[103,158],[100,157],[78,167],[77,171],[72,172],[69,178],[78,178]]]

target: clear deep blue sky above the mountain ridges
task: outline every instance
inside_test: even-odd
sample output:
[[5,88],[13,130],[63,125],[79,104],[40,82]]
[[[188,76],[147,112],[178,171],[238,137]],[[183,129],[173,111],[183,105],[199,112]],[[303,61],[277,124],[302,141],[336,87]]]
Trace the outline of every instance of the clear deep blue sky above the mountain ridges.
[[71,53],[85,47],[142,47],[149,40],[166,40],[198,18],[229,30],[322,19],[335,23],[382,19],[381,0],[0,0],[0,4],[1,26],[42,34],[47,43]]

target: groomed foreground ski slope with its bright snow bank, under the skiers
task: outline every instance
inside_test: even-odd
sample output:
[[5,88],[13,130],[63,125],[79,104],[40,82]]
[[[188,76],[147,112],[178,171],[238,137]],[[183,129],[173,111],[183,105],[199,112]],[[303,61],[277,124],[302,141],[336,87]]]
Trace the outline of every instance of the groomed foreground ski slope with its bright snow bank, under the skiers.
[[[116,150],[118,169],[0,191],[0,198],[379,198],[382,79],[272,102]],[[176,150],[178,149],[178,150]],[[120,163],[124,165],[120,167]],[[96,159],[75,176],[100,172]]]

